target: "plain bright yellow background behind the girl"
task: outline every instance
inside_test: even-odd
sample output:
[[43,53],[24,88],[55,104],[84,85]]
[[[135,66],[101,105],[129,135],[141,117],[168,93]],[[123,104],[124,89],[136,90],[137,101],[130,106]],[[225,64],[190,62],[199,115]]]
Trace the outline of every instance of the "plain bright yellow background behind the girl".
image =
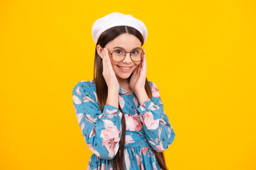
[[176,137],[169,169],[256,169],[255,1],[0,1],[0,169],[86,169],[72,101],[97,18],[139,18]]

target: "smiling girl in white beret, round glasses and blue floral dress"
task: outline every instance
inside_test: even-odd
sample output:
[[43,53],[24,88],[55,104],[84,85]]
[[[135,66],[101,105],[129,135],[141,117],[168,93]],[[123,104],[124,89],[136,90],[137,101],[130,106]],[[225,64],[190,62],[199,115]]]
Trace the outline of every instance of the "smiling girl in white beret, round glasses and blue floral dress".
[[163,152],[175,133],[159,89],[146,79],[146,37],[144,23],[122,13],[92,26],[93,79],[73,89],[75,114],[93,152],[87,169],[167,169]]

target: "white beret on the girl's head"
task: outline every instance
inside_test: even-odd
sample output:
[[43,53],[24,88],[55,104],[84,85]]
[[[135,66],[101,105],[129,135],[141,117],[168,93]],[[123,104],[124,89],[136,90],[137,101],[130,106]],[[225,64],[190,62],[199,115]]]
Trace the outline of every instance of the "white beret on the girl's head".
[[110,13],[107,16],[99,18],[93,23],[92,26],[92,38],[97,43],[100,34],[103,33],[108,28],[112,28],[114,26],[131,26],[140,33],[144,38],[144,42],[147,38],[147,30],[145,24],[137,18],[132,17],[131,15],[124,15],[123,13],[114,12]]

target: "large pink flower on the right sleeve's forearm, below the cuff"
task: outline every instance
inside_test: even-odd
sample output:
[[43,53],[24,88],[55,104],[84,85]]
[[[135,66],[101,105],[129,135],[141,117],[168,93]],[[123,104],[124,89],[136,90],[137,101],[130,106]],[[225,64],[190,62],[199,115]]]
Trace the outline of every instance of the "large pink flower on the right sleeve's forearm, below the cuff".
[[151,112],[140,115],[140,118],[148,130],[156,130],[159,128],[159,119],[154,120],[154,115]]

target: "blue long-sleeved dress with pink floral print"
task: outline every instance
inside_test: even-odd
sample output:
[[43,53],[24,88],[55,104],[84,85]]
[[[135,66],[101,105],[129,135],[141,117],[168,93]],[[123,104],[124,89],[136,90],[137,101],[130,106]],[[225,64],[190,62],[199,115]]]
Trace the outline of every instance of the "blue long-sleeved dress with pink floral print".
[[[155,154],[166,150],[175,133],[164,113],[157,86],[149,81],[152,100],[142,105],[135,94],[119,88],[119,105],[126,121],[124,163],[129,169],[161,169]],[[122,136],[122,113],[118,108],[105,105],[103,112],[97,103],[94,81],[79,81],[73,89],[73,105],[82,136],[93,152],[88,169],[112,169],[110,163],[119,149]]]

